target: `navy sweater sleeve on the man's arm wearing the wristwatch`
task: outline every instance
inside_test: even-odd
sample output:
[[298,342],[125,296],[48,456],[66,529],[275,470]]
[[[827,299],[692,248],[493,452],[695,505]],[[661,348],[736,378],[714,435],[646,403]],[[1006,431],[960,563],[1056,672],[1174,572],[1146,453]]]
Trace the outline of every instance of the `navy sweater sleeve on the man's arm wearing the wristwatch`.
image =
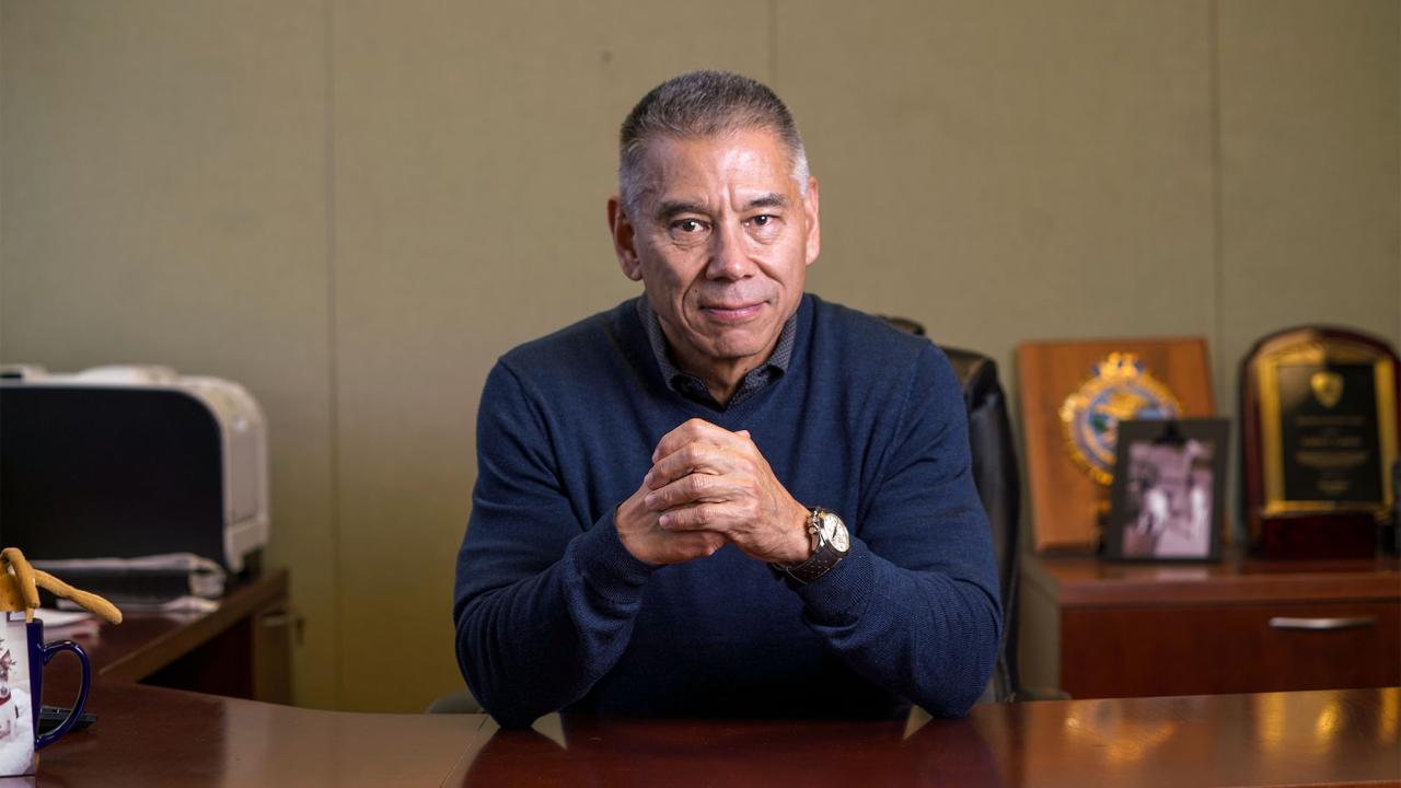
[[937,716],[978,700],[1002,637],[998,568],[947,359],[926,345],[846,559],[797,589],[853,670]]

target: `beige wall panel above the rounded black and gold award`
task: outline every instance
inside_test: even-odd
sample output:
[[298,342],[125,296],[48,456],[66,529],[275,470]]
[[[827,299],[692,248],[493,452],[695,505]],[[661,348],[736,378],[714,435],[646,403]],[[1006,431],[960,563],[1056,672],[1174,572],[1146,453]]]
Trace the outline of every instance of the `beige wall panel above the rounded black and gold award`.
[[[1401,345],[1401,4],[1220,4],[1222,346],[1332,322]],[[1234,394],[1233,394],[1234,395]]]

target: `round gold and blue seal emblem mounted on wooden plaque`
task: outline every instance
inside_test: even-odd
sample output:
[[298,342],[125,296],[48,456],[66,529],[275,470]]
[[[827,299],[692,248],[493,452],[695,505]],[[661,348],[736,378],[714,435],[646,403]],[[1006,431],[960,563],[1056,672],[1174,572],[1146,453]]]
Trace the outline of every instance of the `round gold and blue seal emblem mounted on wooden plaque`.
[[1114,481],[1119,422],[1175,419],[1182,408],[1133,353],[1110,353],[1091,372],[1061,405],[1061,426],[1070,458],[1090,478],[1108,485]]

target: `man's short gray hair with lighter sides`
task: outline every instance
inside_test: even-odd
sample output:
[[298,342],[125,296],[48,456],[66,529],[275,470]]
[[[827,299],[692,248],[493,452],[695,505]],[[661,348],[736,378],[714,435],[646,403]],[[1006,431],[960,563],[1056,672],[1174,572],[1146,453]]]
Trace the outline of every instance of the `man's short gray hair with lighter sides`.
[[793,163],[797,193],[807,196],[807,151],[783,101],[765,84],[730,72],[691,72],[651,88],[622,122],[618,191],[623,210],[636,219],[644,184],[647,142],[661,136],[706,139],[737,130],[766,129],[783,140]]

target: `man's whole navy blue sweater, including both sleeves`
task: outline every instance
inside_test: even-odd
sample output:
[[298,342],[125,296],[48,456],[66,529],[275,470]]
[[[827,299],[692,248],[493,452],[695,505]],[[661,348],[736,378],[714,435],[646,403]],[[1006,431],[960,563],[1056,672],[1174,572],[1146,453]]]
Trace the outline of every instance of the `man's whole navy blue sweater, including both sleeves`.
[[[689,418],[748,429],[852,550],[797,589],[726,545],[635,558],[615,508]],[[787,373],[716,411],[671,391],[632,301],[500,359],[478,416],[457,658],[502,725],[633,715],[960,715],[1002,628],[964,401],[926,339],[804,296]]]

